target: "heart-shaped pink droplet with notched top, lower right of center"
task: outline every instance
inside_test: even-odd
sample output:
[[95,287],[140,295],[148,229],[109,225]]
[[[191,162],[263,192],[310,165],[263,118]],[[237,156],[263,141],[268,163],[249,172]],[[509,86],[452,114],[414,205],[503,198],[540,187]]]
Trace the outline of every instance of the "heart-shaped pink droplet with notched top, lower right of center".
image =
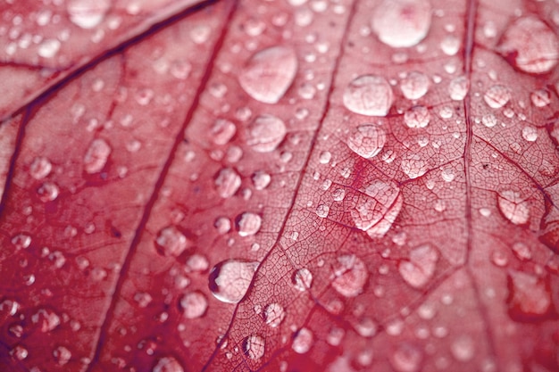
[[435,273],[438,252],[429,244],[421,245],[410,252],[409,260],[398,265],[398,271],[408,285],[421,288],[426,285]]

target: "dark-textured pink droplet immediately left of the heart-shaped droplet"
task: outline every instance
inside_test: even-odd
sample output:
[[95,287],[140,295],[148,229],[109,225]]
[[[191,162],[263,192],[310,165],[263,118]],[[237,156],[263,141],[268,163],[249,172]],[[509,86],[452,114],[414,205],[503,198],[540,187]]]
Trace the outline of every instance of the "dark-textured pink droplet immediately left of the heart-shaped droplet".
[[338,257],[333,266],[332,287],[339,294],[355,297],[363,292],[363,285],[369,278],[369,271],[363,260],[355,254],[344,254]]

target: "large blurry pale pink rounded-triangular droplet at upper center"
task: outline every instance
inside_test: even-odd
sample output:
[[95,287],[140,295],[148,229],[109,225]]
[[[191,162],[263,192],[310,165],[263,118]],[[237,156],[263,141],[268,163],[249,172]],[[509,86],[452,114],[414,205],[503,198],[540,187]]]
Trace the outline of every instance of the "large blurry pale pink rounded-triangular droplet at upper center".
[[278,103],[295,79],[297,56],[288,46],[272,46],[254,54],[238,76],[246,94],[263,103]]

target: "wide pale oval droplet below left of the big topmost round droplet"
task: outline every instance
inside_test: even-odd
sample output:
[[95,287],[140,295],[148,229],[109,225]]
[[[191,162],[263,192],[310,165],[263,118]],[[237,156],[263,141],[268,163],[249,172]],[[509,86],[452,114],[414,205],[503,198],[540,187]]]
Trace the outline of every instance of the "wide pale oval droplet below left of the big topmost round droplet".
[[386,116],[394,100],[392,87],[380,76],[363,75],[344,91],[347,110],[367,116]]

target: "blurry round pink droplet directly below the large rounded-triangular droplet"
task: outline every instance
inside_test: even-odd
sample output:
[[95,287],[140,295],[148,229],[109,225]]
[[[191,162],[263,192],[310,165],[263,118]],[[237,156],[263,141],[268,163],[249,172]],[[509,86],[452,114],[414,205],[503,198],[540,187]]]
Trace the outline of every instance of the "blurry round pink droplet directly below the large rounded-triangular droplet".
[[257,153],[274,151],[287,133],[283,120],[272,115],[257,117],[246,129],[246,144]]

